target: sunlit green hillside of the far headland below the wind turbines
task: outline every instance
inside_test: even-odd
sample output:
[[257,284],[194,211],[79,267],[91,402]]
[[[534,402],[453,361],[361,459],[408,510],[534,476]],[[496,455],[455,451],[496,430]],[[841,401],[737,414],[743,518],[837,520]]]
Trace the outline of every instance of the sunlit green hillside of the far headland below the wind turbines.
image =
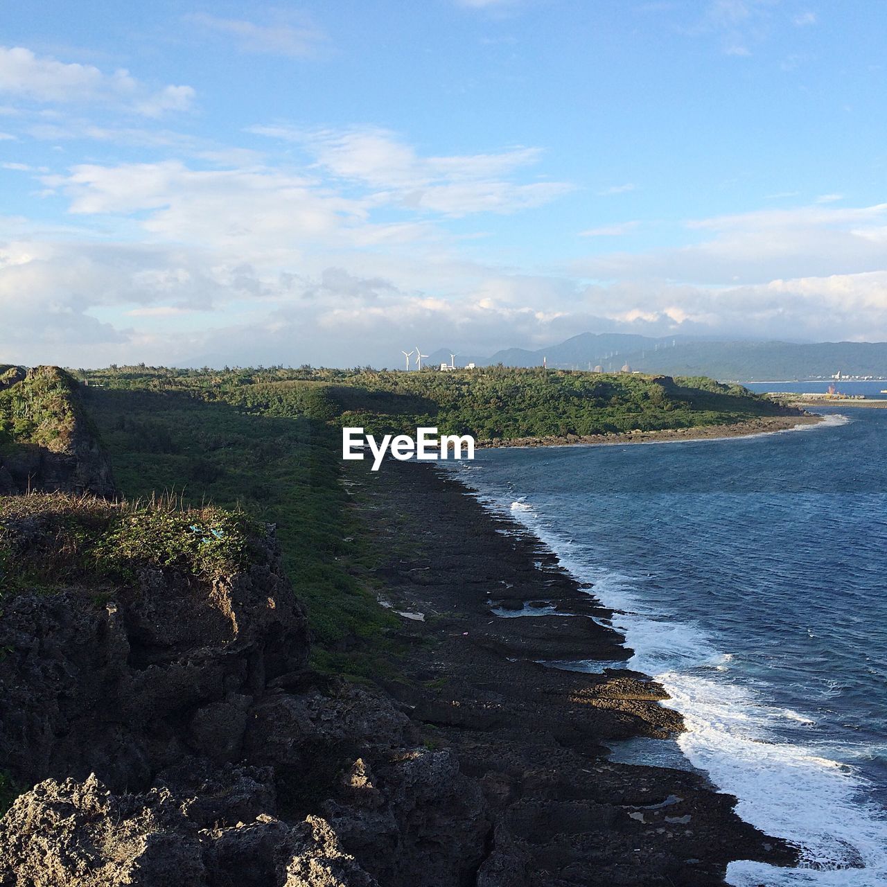
[[478,368],[441,373],[275,369],[87,373],[109,388],[187,392],[240,412],[371,431],[434,425],[480,440],[692,428],[788,414],[740,386],[701,377]]

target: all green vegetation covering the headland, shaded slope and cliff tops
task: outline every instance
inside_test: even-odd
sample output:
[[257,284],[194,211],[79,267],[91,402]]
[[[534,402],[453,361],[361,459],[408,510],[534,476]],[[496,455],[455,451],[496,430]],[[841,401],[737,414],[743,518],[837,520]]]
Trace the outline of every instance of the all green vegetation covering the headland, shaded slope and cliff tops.
[[[15,368],[4,373],[20,375]],[[145,562],[212,577],[247,555],[250,514],[276,526],[288,574],[309,609],[315,667],[358,678],[386,668],[399,624],[376,600],[381,544],[357,527],[341,483],[342,424],[374,432],[436,425],[508,439],[781,412],[745,389],[706,379],[501,366],[453,373],[111,367],[75,376],[88,383],[79,387],[82,402],[122,495],[131,501],[165,493],[199,511],[115,510],[90,500],[75,515],[59,506],[48,537],[51,551],[64,557],[50,552],[38,565],[33,558],[30,566],[17,563],[0,535],[7,584],[11,577],[47,590],[83,577],[122,582]],[[40,369],[5,389],[3,379],[0,428],[8,436],[44,445],[64,437],[80,409],[71,376]]]

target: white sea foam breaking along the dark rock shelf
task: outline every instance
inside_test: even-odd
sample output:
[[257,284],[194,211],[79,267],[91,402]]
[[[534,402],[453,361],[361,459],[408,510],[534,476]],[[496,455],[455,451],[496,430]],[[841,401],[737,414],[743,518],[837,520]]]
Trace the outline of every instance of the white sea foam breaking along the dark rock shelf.
[[[832,415],[800,429],[844,424]],[[730,682],[732,655],[695,625],[669,623],[646,607],[632,577],[595,569],[570,541],[548,530],[533,506],[479,496],[510,512],[559,556],[595,596],[615,611],[613,624],[634,650],[629,668],[654,675],[671,696],[687,732],[679,747],[724,791],[739,798],[737,812],[765,833],[800,849],[800,866],[778,868],[740,861],[730,865],[734,887],[883,887],[887,884],[887,820],[862,797],[865,781],[852,767],[803,745],[781,742],[780,721],[811,723],[803,712],[767,705],[750,687]],[[553,663],[549,663],[553,664]],[[566,663],[559,663],[565,667]],[[602,663],[574,663],[589,670]],[[616,663],[613,663],[616,664]]]

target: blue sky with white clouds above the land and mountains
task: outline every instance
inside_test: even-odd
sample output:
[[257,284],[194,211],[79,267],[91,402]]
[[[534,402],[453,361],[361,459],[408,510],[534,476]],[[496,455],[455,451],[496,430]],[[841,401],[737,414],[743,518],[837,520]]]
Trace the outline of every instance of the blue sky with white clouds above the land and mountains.
[[0,363],[887,340],[883,0],[3,6]]

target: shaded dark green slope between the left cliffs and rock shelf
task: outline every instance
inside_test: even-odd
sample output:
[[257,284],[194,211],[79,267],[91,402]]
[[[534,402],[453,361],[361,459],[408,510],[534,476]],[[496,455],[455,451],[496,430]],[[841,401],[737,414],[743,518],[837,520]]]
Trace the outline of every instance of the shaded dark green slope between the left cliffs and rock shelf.
[[352,677],[384,667],[397,619],[349,569],[366,573],[374,555],[349,514],[334,429],[297,408],[293,417],[244,412],[190,385],[138,390],[130,379],[121,390],[82,390],[123,495],[166,492],[274,524],[309,609],[315,667]]

